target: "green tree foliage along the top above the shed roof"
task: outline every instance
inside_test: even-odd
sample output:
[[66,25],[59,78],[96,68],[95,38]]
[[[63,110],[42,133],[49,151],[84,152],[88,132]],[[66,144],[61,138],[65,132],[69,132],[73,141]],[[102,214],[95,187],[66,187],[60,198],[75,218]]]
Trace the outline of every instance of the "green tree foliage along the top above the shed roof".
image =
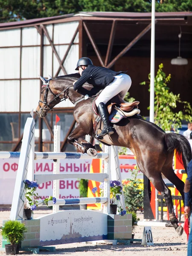
[[[151,12],[151,0],[0,0],[0,22],[75,12]],[[192,11],[192,0],[158,0],[156,12]]]

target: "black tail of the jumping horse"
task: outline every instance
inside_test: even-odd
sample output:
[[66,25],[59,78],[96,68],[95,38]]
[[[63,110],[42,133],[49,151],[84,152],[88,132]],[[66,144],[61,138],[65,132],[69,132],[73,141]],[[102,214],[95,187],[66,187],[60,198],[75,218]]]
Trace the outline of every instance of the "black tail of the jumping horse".
[[176,154],[180,162],[180,157],[182,157],[183,165],[185,171],[187,172],[188,163],[192,159],[192,150],[189,141],[183,135],[175,133],[165,134],[165,140],[167,150],[169,152],[176,150]]

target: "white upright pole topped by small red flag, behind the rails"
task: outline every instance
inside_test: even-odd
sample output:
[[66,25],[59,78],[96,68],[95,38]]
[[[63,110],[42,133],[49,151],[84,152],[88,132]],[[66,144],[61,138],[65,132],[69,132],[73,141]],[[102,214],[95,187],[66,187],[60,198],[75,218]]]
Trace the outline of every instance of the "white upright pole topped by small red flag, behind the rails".
[[[54,125],[54,148],[53,152],[60,152],[60,136],[61,136],[61,126]],[[60,159],[55,159],[53,163],[53,174],[60,174]],[[53,197],[59,198],[59,180],[53,180]],[[58,212],[59,205],[53,205],[52,212]]]

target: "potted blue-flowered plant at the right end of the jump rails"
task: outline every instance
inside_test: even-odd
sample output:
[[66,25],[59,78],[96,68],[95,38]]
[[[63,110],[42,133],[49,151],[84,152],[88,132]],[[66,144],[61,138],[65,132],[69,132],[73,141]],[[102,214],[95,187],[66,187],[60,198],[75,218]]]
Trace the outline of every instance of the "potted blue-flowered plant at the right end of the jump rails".
[[[99,194],[103,196],[104,191],[104,183],[102,183],[100,186],[100,192]],[[97,192],[97,188],[92,189],[93,193]],[[120,200],[120,195],[122,195],[122,186],[121,183],[118,180],[111,180],[110,181],[110,214],[116,214],[117,210],[117,204],[115,204],[115,200]]]

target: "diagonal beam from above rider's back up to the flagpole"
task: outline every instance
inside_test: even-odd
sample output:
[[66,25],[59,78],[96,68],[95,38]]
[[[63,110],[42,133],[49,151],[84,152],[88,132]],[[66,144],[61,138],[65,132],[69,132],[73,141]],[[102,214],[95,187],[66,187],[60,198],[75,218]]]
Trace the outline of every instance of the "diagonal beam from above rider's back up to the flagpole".
[[142,32],[139,33],[139,35],[137,35],[132,41],[131,43],[129,43],[114,59],[113,61],[111,61],[108,65],[107,68],[111,68],[115,62],[122,57],[129,49],[131,49],[132,46],[134,46],[134,44],[137,43],[137,41],[140,40],[140,38],[143,37],[143,35],[145,35],[149,30],[151,29],[151,23],[148,24],[148,26],[145,27],[145,29],[142,30]]

